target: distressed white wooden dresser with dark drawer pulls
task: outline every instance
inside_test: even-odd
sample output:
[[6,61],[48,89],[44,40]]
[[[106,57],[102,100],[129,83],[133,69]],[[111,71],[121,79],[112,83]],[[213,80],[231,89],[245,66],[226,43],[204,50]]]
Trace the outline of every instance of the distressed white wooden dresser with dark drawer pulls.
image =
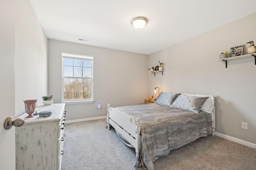
[[52,111],[48,117],[23,118],[16,127],[16,170],[60,170],[64,143],[65,104],[40,105],[36,111]]

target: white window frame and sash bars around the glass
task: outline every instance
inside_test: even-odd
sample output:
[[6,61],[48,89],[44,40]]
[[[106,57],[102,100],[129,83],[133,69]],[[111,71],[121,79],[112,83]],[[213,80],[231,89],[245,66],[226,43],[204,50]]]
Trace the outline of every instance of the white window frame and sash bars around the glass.
[[[63,59],[82,59],[91,61],[92,64],[92,76],[90,78],[86,77],[74,77],[74,76],[64,76],[64,63]],[[74,99],[74,100],[64,100],[64,78],[79,78],[79,79],[90,79],[91,80],[91,98],[90,99]],[[68,53],[62,52],[62,102],[65,104],[82,104],[82,103],[92,103],[93,100],[93,56],[92,55],[84,55],[84,54],[77,54],[77,53]]]

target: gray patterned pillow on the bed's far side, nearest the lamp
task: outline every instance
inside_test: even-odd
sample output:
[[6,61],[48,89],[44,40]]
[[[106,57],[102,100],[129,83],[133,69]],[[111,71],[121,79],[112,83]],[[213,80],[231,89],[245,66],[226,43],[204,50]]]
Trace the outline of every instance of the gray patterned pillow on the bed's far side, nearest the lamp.
[[156,98],[155,103],[171,106],[172,102],[174,102],[178,95],[179,94],[161,92],[159,96]]

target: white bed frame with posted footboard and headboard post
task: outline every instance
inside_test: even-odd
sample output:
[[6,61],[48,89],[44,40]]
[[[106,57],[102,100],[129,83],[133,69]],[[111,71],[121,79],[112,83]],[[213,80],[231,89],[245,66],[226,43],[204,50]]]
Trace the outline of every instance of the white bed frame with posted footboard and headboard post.
[[[215,135],[215,106],[213,107],[212,113],[214,119],[212,120],[212,135]],[[114,127],[134,148],[136,151],[136,156],[138,154],[138,149],[141,144],[141,134],[140,134],[140,117],[137,119],[132,119],[130,116],[118,111],[114,107],[110,107],[108,104],[108,114],[107,114],[107,124],[108,130],[110,130],[110,125]]]

